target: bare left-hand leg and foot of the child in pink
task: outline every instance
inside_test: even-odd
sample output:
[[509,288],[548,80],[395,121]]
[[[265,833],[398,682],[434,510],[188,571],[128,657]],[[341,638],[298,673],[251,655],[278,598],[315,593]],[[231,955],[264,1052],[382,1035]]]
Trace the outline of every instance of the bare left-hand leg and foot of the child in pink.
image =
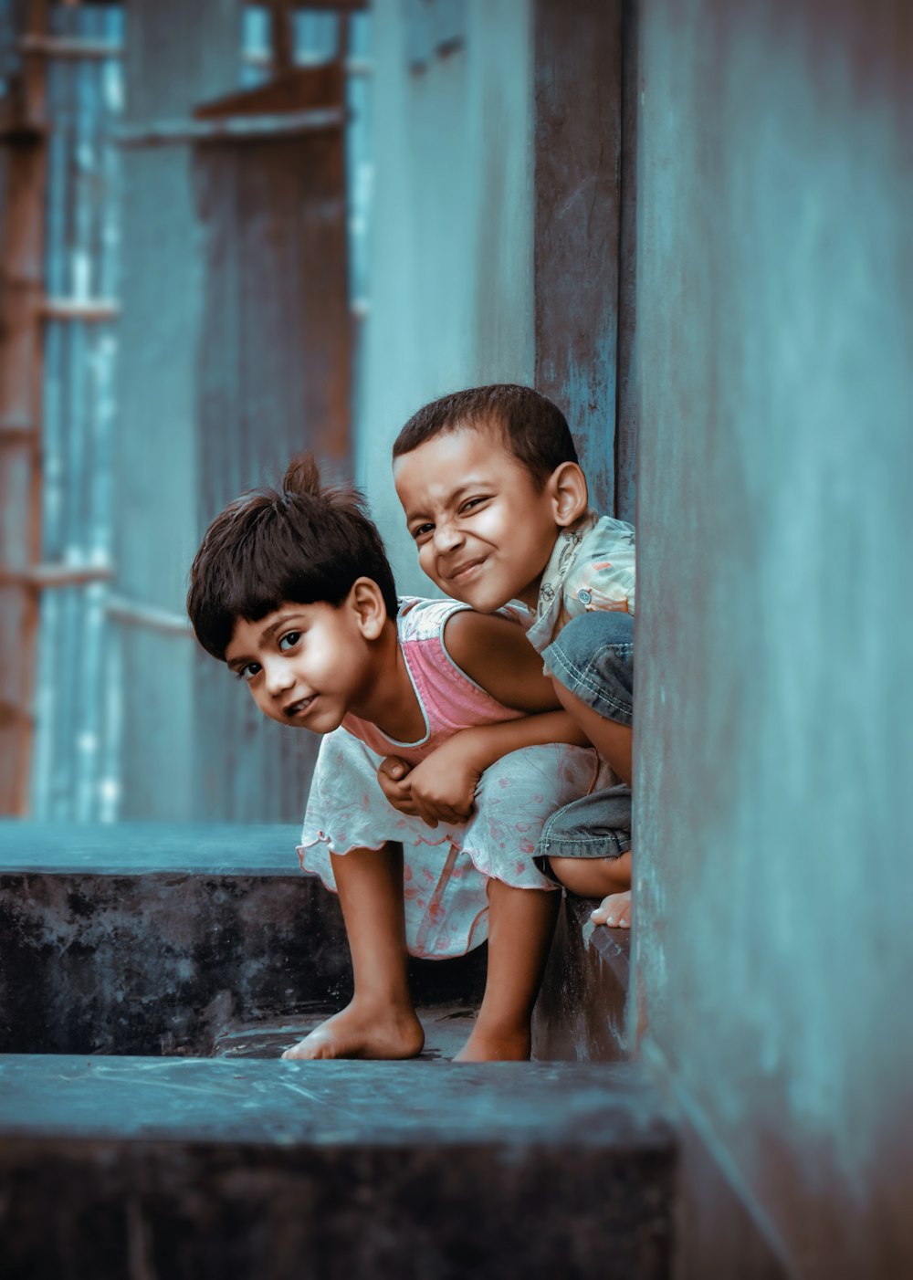
[[425,1037],[406,973],[402,850],[388,844],[330,858],[352,954],[355,993],[346,1009],[282,1056],[415,1057]]

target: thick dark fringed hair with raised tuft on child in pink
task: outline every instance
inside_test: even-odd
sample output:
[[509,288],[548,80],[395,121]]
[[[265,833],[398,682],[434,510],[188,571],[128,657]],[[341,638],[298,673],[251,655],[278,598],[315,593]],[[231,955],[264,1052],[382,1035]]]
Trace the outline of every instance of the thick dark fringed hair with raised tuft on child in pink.
[[360,577],[378,584],[394,618],[393,571],[364,497],[321,485],[301,454],[279,489],[254,489],[215,517],[193,559],[187,613],[204,649],[224,660],[238,618],[257,622],[286,602],[338,607]]

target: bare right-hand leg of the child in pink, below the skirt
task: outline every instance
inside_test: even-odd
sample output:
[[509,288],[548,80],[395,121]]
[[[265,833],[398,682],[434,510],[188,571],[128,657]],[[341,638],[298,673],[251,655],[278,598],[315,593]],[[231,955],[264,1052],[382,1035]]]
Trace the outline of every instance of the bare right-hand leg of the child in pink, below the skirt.
[[488,977],[479,1016],[458,1062],[526,1061],[561,895],[488,882]]

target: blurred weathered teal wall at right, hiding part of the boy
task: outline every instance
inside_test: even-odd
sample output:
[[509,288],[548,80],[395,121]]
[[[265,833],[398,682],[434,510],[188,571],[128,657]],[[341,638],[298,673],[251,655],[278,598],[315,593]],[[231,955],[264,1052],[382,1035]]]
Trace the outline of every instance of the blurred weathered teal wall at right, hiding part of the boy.
[[913,15],[658,0],[639,54],[644,1046],[790,1271],[900,1275]]

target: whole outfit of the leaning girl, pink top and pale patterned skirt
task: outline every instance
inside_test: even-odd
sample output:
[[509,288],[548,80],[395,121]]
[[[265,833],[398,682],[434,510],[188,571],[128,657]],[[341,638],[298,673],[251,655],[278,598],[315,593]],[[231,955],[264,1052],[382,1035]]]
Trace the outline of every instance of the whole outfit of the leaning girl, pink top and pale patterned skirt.
[[403,847],[406,945],[412,955],[464,955],[488,936],[489,877],[517,888],[557,890],[533,860],[545,819],[598,776],[590,748],[554,744],[512,751],[481,777],[475,812],[460,826],[426,827],[394,809],[376,780],[385,755],[417,764],[461,728],[516,719],[462,672],[444,646],[447,620],[465,609],[456,600],[403,599],[400,644],[426,731],[397,742],[376,726],[347,716],[320,744],[298,858],[305,872],[335,891],[330,852]]

